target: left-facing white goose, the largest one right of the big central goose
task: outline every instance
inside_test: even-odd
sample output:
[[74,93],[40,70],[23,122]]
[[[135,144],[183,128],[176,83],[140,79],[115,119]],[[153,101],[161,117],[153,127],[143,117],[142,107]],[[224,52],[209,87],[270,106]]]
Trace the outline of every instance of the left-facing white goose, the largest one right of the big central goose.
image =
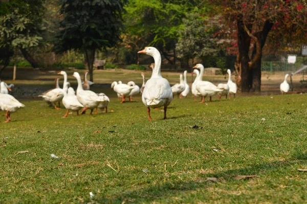
[[196,64],[193,68],[198,68],[201,70],[199,79],[196,81],[196,90],[198,90],[199,93],[202,95],[202,102],[205,102],[206,97],[210,97],[210,102],[212,101],[211,97],[216,95],[218,92],[221,92],[222,89],[217,88],[213,83],[209,81],[203,81],[200,78],[202,78],[204,74],[204,66],[202,64]]

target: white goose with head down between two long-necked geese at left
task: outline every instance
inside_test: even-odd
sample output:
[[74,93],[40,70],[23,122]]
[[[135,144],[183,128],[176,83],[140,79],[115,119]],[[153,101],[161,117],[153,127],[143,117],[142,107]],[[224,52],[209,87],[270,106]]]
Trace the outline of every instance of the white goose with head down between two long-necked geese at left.
[[76,111],[77,116],[79,116],[79,110],[82,109],[84,106],[78,101],[77,96],[75,95],[75,90],[72,87],[69,87],[68,93],[66,92],[62,93],[64,94],[62,103],[67,109],[66,114],[62,118],[67,117],[70,110]]

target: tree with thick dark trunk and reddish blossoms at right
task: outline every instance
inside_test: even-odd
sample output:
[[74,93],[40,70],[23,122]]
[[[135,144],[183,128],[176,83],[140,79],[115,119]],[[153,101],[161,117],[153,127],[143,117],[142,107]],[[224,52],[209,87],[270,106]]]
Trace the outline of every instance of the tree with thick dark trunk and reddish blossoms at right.
[[[223,8],[228,25],[237,32],[237,83],[242,92],[260,92],[262,48],[273,26],[286,31],[306,31],[307,5],[297,0],[214,1]],[[233,24],[235,22],[235,24]],[[231,29],[230,29],[231,30]]]

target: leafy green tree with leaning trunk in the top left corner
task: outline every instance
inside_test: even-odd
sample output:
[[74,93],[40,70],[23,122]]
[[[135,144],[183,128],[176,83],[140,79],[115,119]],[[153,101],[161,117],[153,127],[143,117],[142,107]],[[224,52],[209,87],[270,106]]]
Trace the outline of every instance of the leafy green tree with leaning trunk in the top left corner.
[[12,0],[0,4],[0,47],[14,47],[35,67],[29,49],[42,42],[44,0]]

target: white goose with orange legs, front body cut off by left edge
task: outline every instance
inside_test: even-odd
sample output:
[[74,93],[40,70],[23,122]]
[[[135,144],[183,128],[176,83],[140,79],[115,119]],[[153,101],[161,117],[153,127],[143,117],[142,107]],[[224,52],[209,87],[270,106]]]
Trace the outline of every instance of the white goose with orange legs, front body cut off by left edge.
[[6,111],[6,121],[11,121],[11,112],[16,112],[19,108],[25,107],[24,104],[20,103],[17,99],[9,94],[0,94],[0,109]]

